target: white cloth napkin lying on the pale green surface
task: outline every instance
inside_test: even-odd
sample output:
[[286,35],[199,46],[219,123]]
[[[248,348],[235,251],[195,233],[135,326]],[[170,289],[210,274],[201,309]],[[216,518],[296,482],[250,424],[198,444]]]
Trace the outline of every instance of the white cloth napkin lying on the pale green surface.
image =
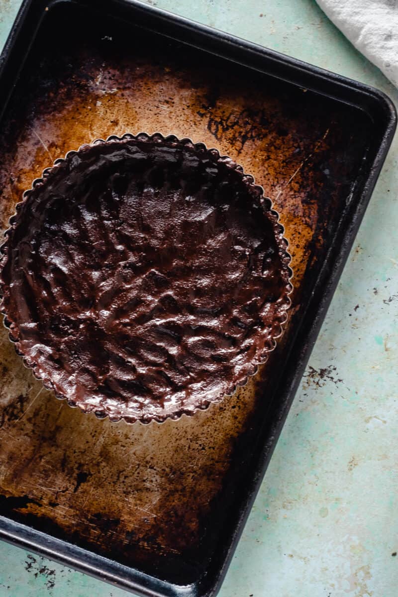
[[398,87],[398,0],[317,0],[354,46]]

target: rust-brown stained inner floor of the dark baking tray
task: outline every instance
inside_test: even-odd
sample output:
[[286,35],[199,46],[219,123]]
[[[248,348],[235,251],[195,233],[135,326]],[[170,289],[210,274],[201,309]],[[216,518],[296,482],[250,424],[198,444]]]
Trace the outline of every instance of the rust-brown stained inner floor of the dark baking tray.
[[322,264],[331,214],[344,209],[366,119],[199,51],[138,30],[127,36],[121,24],[91,30],[74,23],[72,47],[50,20],[33,48],[1,129],[2,228],[32,180],[82,143],[142,130],[203,141],[253,174],[280,213],[294,271],[291,318],[247,386],[195,417],[148,426],[99,421],[57,401],[2,330],[0,512],[187,582],[211,556],[209,528],[228,509],[266,417],[271,371],[283,366]]

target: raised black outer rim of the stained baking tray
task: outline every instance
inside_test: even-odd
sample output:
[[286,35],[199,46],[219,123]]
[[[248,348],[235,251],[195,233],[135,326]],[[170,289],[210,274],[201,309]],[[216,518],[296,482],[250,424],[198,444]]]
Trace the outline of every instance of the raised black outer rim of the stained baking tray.
[[[13,54],[16,53],[17,45],[23,45],[24,59],[26,59],[42,20],[48,14],[48,11],[57,4],[75,4],[88,8],[98,8],[98,5],[95,5],[95,2],[92,0],[23,1],[0,55],[0,82],[6,79],[6,91],[2,94],[4,97],[0,97],[0,121],[24,64],[24,60],[18,63],[18,68],[14,69],[11,75],[11,80],[14,81],[14,84],[8,87],[7,69],[10,69],[12,66]],[[112,0],[112,2],[109,2],[109,8],[106,10],[112,11],[114,5],[119,5],[122,9],[131,11],[131,13],[136,11],[140,14],[141,18],[145,17],[146,19],[156,21],[155,24],[162,23],[166,27],[174,27],[177,33],[187,34],[189,32],[192,38],[189,41],[184,39],[184,43],[186,44],[211,54],[217,54],[223,59],[233,60],[251,69],[256,69],[257,66],[257,70],[269,73],[271,76],[276,76],[276,78],[283,79],[298,87],[303,87],[300,81],[301,83],[304,81],[306,84],[305,88],[314,90],[316,93],[324,96],[332,97],[337,101],[348,103],[358,109],[365,110],[369,118],[373,121],[375,117],[382,120],[378,127],[380,137],[377,141],[377,150],[369,158],[369,172],[363,181],[362,188],[357,192],[356,201],[353,201],[349,206],[350,209],[347,212],[343,230],[339,229],[336,238],[333,239],[334,242],[331,242],[331,247],[340,242],[340,252],[333,260],[328,256],[325,257],[323,267],[315,283],[317,291],[308,300],[307,310],[303,316],[300,330],[298,330],[297,336],[292,339],[292,347],[286,356],[285,364],[285,371],[288,372],[288,375],[285,377],[282,384],[282,392],[280,392],[283,398],[280,399],[277,408],[273,409],[274,420],[271,429],[268,431],[269,437],[264,441],[261,430],[258,435],[258,445],[260,445],[260,448],[252,457],[254,461],[252,465],[255,471],[254,476],[246,487],[246,494],[242,499],[242,503],[239,504],[239,513],[235,516],[232,532],[227,533],[225,545],[221,546],[221,548],[218,547],[203,577],[199,578],[195,583],[186,586],[168,583],[155,576],[144,574],[134,568],[119,564],[109,558],[42,533],[42,531],[36,531],[25,524],[0,515],[0,538],[2,540],[32,550],[39,553],[39,555],[66,564],[122,589],[145,597],[211,597],[221,587],[255,496],[263,481],[263,476],[280,431],[282,430],[283,423],[291,407],[298,384],[300,384],[307,361],[323,319],[325,318],[326,310],[331,302],[345,261],[359,229],[360,221],[365,213],[372,190],[374,189],[393,139],[397,125],[397,114],[393,102],[386,94],[362,82],[354,81],[353,79],[329,72],[317,66],[312,66],[304,61],[285,56],[284,54],[240,39],[229,33],[152,7],[140,0]],[[103,11],[104,5],[101,3],[99,8]],[[145,26],[147,29],[151,29],[150,23],[148,25],[145,24]],[[29,44],[24,44],[22,39],[26,31],[30,32]],[[161,35],[167,36],[167,33],[161,32]],[[176,39],[175,35],[169,35],[169,37]],[[199,41],[201,40],[203,43],[200,44],[198,41],[195,41],[195,38],[199,38]],[[220,53],[211,51],[206,42],[209,45],[221,45],[223,51]],[[236,59],[234,53],[236,53],[238,58],[239,56],[240,58],[243,56],[246,60]],[[248,64],[247,59],[249,59],[249,63],[251,64]],[[11,70],[13,69],[11,68]],[[310,84],[308,85],[308,83]],[[322,85],[326,85],[326,90],[322,89]],[[331,93],[331,91],[335,93]],[[352,96],[354,96],[356,101],[350,101],[350,96],[351,100]],[[331,247],[329,247],[329,251]],[[320,282],[323,283],[320,284]],[[322,289],[319,289],[319,286],[322,286]]]

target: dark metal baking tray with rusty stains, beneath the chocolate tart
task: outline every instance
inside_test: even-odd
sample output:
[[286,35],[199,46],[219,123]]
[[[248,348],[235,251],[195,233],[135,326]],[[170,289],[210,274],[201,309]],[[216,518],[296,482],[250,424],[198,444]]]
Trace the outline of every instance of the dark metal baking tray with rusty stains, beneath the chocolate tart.
[[0,338],[0,536],[141,595],[214,595],[396,126],[380,91],[124,0],[24,2],[1,57],[0,217],[55,158],[126,131],[215,146],[262,184],[294,270],[257,377],[195,417],[98,421]]

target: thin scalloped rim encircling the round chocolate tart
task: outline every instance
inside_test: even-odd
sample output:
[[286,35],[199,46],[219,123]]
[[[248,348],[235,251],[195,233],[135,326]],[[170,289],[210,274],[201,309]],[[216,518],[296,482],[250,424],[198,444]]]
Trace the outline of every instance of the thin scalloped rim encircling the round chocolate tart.
[[[289,242],[288,240],[285,238],[284,233],[285,233],[285,228],[283,227],[283,225],[280,223],[279,221],[279,213],[274,209],[273,207],[273,201],[267,197],[266,195],[264,195],[264,189],[262,186],[260,186],[260,184],[255,184],[255,179],[254,176],[252,176],[251,174],[246,174],[245,171],[243,170],[243,167],[240,164],[237,164],[235,161],[233,161],[229,156],[227,155],[220,155],[220,152],[218,151],[218,149],[215,149],[213,147],[209,148],[205,145],[205,143],[193,143],[193,141],[191,139],[189,139],[189,137],[183,137],[183,139],[178,139],[178,137],[176,137],[175,135],[167,135],[167,136],[163,136],[162,133],[153,133],[152,135],[148,134],[148,133],[138,133],[137,135],[131,134],[131,133],[124,133],[121,137],[117,136],[117,135],[110,135],[109,137],[107,137],[107,139],[95,139],[94,141],[92,141],[92,143],[84,143],[82,144],[79,149],[76,150],[70,150],[69,152],[66,153],[64,158],[57,158],[54,161],[53,166],[45,168],[43,170],[42,173],[42,177],[33,180],[32,182],[32,186],[30,189],[27,189],[26,191],[23,192],[22,195],[22,201],[18,202],[16,204],[16,211],[14,212],[13,216],[10,217],[10,219],[8,220],[9,223],[9,227],[5,230],[4,232],[4,237],[5,237],[5,241],[0,245],[0,273],[2,270],[2,267],[4,266],[5,261],[7,261],[7,254],[4,251],[4,248],[7,246],[7,242],[8,242],[8,232],[10,232],[10,230],[14,227],[14,223],[18,214],[18,211],[20,210],[21,206],[24,204],[24,202],[26,201],[26,198],[29,196],[30,192],[32,192],[33,189],[35,189],[35,187],[38,184],[42,184],[45,182],[45,180],[48,177],[48,174],[53,171],[55,168],[57,168],[60,164],[63,164],[63,162],[65,162],[67,159],[69,159],[71,156],[76,155],[76,153],[78,153],[81,150],[84,149],[88,149],[88,147],[92,147],[96,144],[101,144],[101,143],[107,143],[109,141],[132,141],[132,140],[138,140],[138,141],[157,141],[158,143],[162,143],[163,141],[169,142],[169,143],[178,143],[178,144],[182,144],[182,145],[190,145],[192,147],[195,147],[196,150],[199,150],[200,152],[211,152],[212,155],[217,156],[218,159],[228,159],[229,160],[229,164],[231,167],[235,168],[235,170],[239,171],[245,178],[246,180],[249,181],[249,184],[251,186],[256,187],[258,190],[260,190],[262,197],[269,203],[269,211],[270,213],[275,217],[276,219],[276,223],[279,225],[280,227],[280,233],[282,234],[282,241],[285,243],[285,248],[280,247],[280,249],[282,249],[285,252],[286,257],[288,257],[288,271],[289,271],[289,278],[288,278],[288,290],[286,293],[286,296],[288,297],[288,302],[286,303],[285,308],[282,311],[282,315],[278,316],[276,318],[276,321],[279,322],[279,333],[276,336],[273,336],[271,343],[272,346],[269,349],[266,349],[264,347],[264,351],[263,354],[265,353],[264,358],[261,359],[255,359],[254,363],[253,363],[253,370],[249,371],[248,374],[245,376],[245,378],[243,378],[243,380],[237,382],[232,389],[232,392],[230,393],[226,393],[220,396],[220,398],[217,399],[212,399],[211,401],[209,400],[203,400],[202,402],[200,402],[198,404],[198,406],[196,406],[195,408],[192,409],[184,409],[181,411],[178,411],[177,414],[165,414],[163,416],[158,416],[158,417],[151,417],[151,418],[137,418],[134,421],[130,421],[128,420],[128,418],[126,417],[119,417],[119,418],[112,418],[109,416],[109,414],[105,413],[104,411],[87,411],[84,410],[84,408],[81,407],[81,405],[75,404],[75,402],[71,401],[70,399],[66,398],[66,396],[60,395],[59,393],[57,393],[54,389],[53,386],[53,382],[51,381],[50,378],[48,379],[43,379],[42,377],[40,377],[39,373],[37,372],[38,370],[38,365],[37,364],[33,364],[30,365],[29,362],[27,362],[27,357],[24,355],[23,352],[21,352],[21,350],[18,349],[18,341],[16,340],[16,338],[13,337],[12,331],[11,331],[11,326],[13,324],[15,324],[15,322],[11,322],[8,318],[7,318],[7,312],[4,309],[4,306],[2,304],[1,301],[1,307],[0,307],[0,312],[3,313],[4,315],[4,327],[8,330],[8,336],[10,338],[10,341],[14,344],[14,347],[16,349],[16,352],[18,355],[22,356],[23,358],[23,364],[26,368],[31,369],[33,375],[35,376],[36,379],[38,379],[39,381],[42,381],[43,386],[48,389],[48,390],[53,390],[54,395],[57,399],[60,400],[66,400],[67,404],[71,407],[71,408],[79,408],[83,413],[85,414],[94,414],[95,417],[97,417],[100,420],[103,420],[104,418],[109,418],[110,421],[112,421],[112,423],[119,423],[120,421],[125,421],[125,423],[127,424],[136,424],[136,423],[140,423],[143,425],[148,425],[150,423],[152,424],[162,424],[164,423],[167,419],[171,419],[174,421],[179,420],[183,415],[192,417],[196,412],[198,411],[205,411],[208,410],[208,408],[212,405],[212,404],[220,404],[220,402],[223,401],[223,399],[226,396],[232,396],[239,387],[243,387],[248,383],[249,377],[255,376],[255,374],[257,374],[258,371],[258,367],[262,364],[264,364],[264,362],[266,362],[268,355],[275,349],[276,347],[276,341],[282,336],[283,334],[283,325],[286,324],[286,321],[288,319],[288,310],[291,307],[291,298],[290,295],[293,291],[293,285],[292,285],[292,277],[293,277],[293,272],[291,267],[289,266],[289,264],[291,263],[291,254],[288,251],[288,247],[289,247]],[[1,290],[1,280],[0,280],[0,290]],[[0,298],[2,299],[2,296],[0,295]],[[15,324],[16,325],[16,324]]]

